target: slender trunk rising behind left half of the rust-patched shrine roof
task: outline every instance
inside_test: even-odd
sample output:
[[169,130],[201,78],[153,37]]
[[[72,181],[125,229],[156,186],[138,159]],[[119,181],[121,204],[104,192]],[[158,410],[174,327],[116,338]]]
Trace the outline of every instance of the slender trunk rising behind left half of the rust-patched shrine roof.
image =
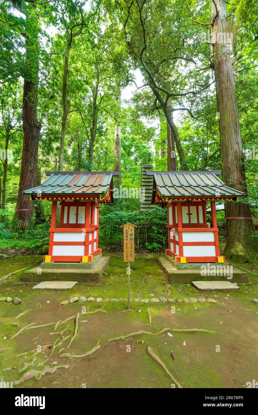
[[61,127],[61,139],[60,139],[58,171],[63,171],[63,169],[64,169],[65,130],[66,130],[67,117],[68,117],[67,78],[68,78],[68,62],[69,62],[70,48],[71,48],[71,42],[68,40],[67,41],[67,47],[65,49],[65,66],[64,66],[64,73],[63,73],[63,84],[62,84],[63,115],[62,115],[62,127]]

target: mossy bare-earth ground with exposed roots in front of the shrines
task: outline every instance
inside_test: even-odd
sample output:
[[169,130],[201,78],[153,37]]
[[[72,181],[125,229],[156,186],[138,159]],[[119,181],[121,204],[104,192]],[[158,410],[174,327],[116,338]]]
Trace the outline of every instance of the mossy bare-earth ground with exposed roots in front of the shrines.
[[[31,268],[40,260],[41,257],[38,256],[1,260],[1,276],[24,267]],[[43,371],[46,367],[68,365],[67,368],[57,369],[53,374],[47,373],[38,380],[28,379],[15,387],[171,388],[173,382],[170,377],[148,356],[148,346],[152,347],[184,388],[244,388],[246,382],[256,378],[258,308],[251,299],[258,297],[258,274],[250,264],[240,265],[248,272],[250,283],[241,286],[239,292],[229,295],[223,292],[204,294],[215,298],[217,304],[146,304],[132,301],[130,312],[125,311],[126,301],[60,305],[62,300],[79,293],[86,297],[126,299],[126,266],[121,255],[112,255],[100,285],[75,286],[69,291],[33,291],[31,285],[21,283],[22,272],[3,282],[0,285],[1,296],[14,298],[17,295],[23,301],[19,305],[0,302],[0,376],[3,380],[16,381],[31,369]],[[148,283],[142,282],[144,277]],[[159,298],[165,295],[166,286],[166,276],[155,261],[155,256],[136,256],[135,263],[131,264],[131,297]],[[87,288],[88,291],[81,293]],[[171,286],[170,292],[170,298],[203,296],[203,293],[186,285]],[[173,306],[174,312],[171,312]],[[100,307],[106,313],[84,314]],[[152,315],[152,325],[149,325],[148,308]],[[15,319],[26,310],[30,311]],[[81,313],[78,333],[67,349],[74,334],[74,320],[58,327],[55,332],[54,325],[78,312]],[[30,323],[53,324],[24,330],[11,339]],[[166,327],[201,328],[214,333],[171,330],[173,337],[167,333],[139,334],[108,342],[108,339],[139,330],[158,333]],[[60,334],[64,329],[65,332]],[[62,342],[67,336],[69,337]],[[60,357],[67,352],[85,353],[99,340],[100,349],[90,356],[78,359]],[[139,340],[143,340],[143,343]],[[61,344],[54,350],[53,347],[44,347],[54,343]],[[37,347],[36,352],[30,352]],[[60,352],[60,349],[63,350]],[[22,355],[17,356],[19,354]],[[51,365],[54,362],[57,363]]]

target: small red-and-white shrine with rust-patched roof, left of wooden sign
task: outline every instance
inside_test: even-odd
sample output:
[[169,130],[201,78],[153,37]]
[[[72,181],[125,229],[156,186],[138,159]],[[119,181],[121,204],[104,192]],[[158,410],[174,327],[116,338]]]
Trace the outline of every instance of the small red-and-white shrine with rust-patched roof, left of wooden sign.
[[[100,203],[111,204],[118,171],[46,171],[40,186],[25,190],[31,200],[52,202],[48,255],[44,262],[91,262],[98,247]],[[57,225],[57,202],[60,223]]]

